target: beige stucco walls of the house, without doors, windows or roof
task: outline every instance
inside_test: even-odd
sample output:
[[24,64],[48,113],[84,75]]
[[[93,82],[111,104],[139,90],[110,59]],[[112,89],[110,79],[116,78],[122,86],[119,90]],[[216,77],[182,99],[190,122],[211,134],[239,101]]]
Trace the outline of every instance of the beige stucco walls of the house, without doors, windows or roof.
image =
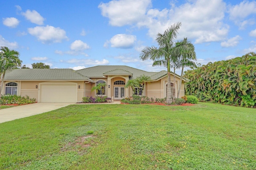
[[[106,82],[106,95],[108,97],[114,96],[114,87],[124,87],[124,85],[114,85],[115,81],[121,80],[124,82],[128,82],[129,76],[106,76],[102,78],[91,78],[94,82],[89,81],[70,81],[70,80],[51,80],[51,81],[32,81],[32,80],[22,80],[22,81],[5,81],[4,84],[8,82],[16,82],[18,84],[17,87],[17,95],[20,96],[29,96],[30,98],[36,98],[36,102],[41,102],[40,88],[42,84],[56,84],[62,86],[64,84],[75,84],[76,85],[76,96],[77,102],[82,101],[84,96],[96,96],[95,91],[91,91],[92,87],[96,86],[96,82],[98,80],[104,80]],[[171,75],[171,82],[173,83],[173,75]],[[175,82],[175,95],[177,96],[178,93],[178,85],[180,82],[180,78],[176,77]],[[144,87],[144,96],[149,98],[165,98],[166,97],[166,84],[167,84],[167,76],[160,78],[159,80],[147,82]],[[37,86],[37,88],[36,88]],[[80,88],[79,88],[80,87]],[[5,89],[5,88],[4,88]],[[180,90],[180,97],[184,96],[184,82],[182,81],[182,86]],[[132,96],[132,89],[131,88],[124,88],[125,96],[124,97],[131,97]],[[4,94],[4,90],[2,92]]]

